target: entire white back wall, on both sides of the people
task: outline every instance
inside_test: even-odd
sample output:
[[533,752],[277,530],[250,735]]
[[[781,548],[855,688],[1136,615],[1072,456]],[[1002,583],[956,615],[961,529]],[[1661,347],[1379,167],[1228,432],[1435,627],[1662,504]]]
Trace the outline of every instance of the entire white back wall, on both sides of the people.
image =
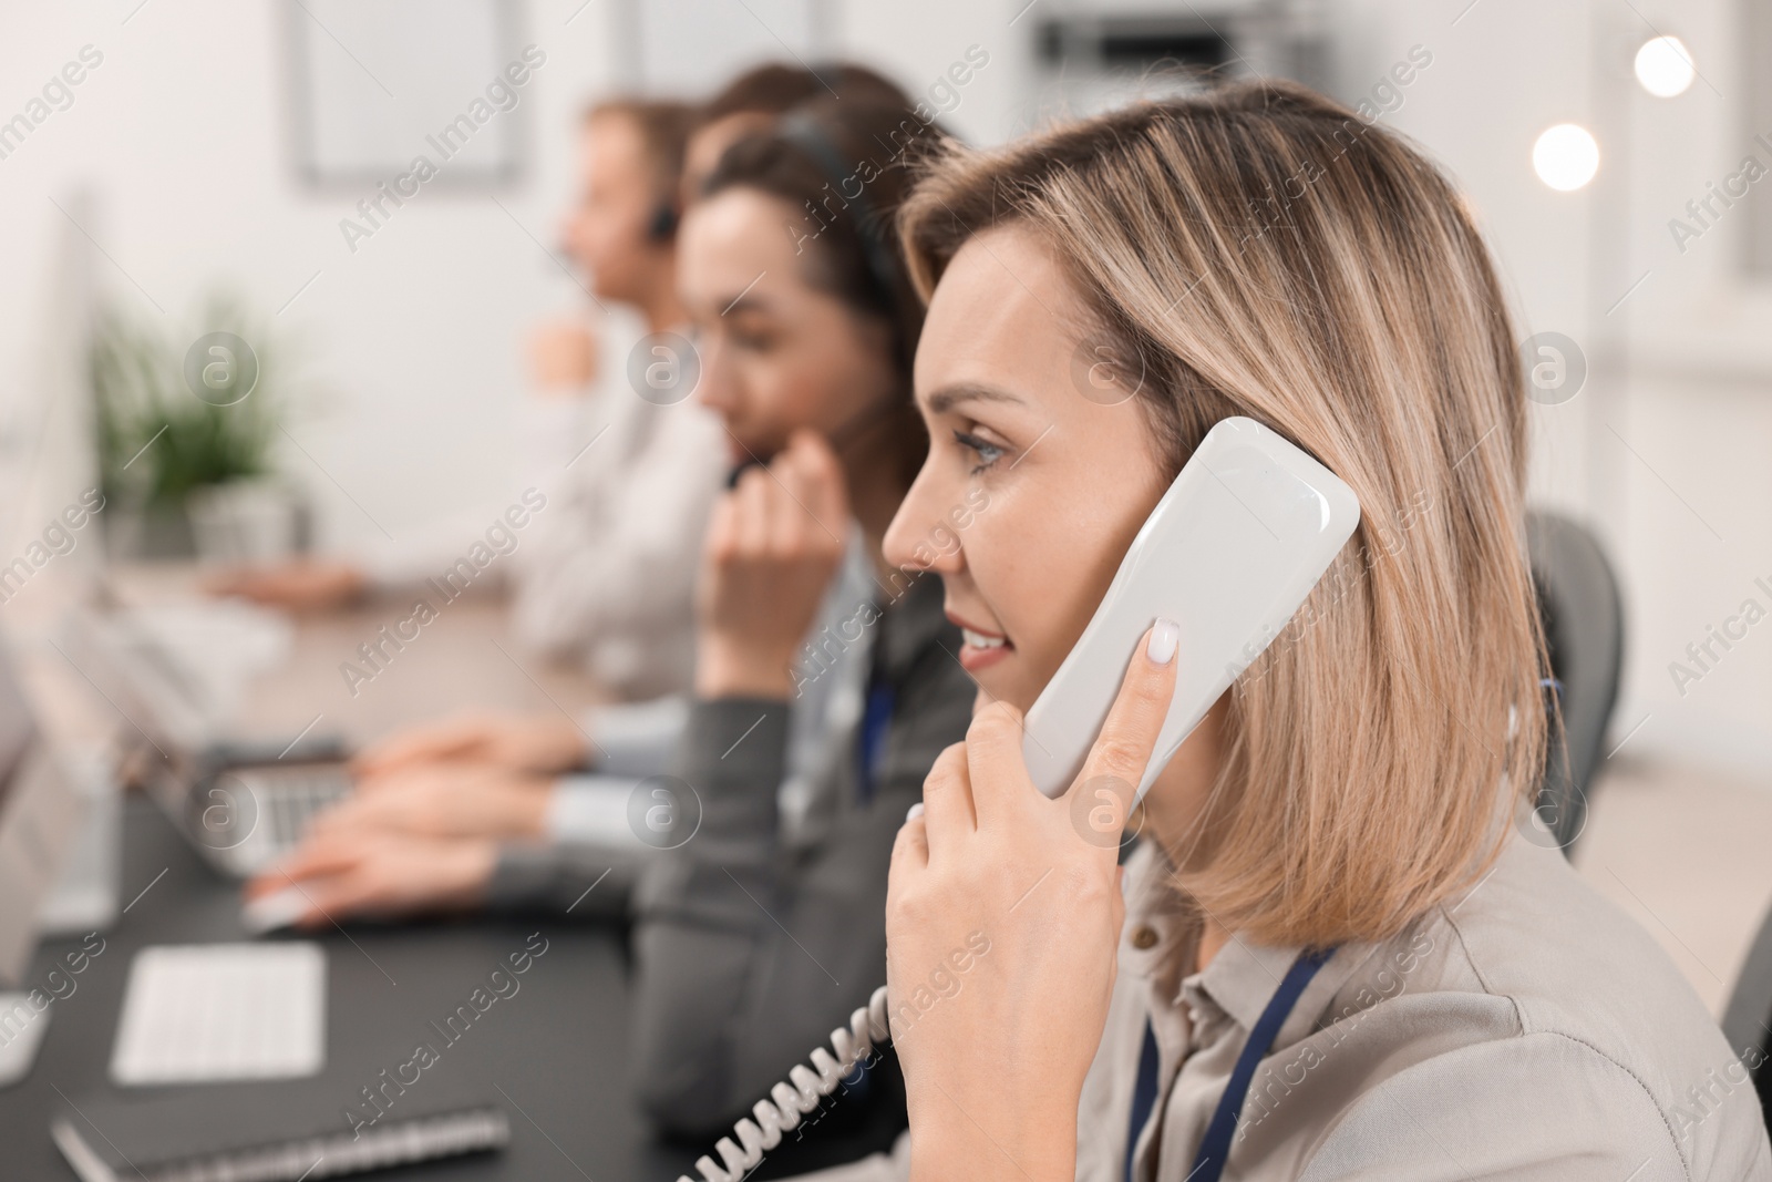
[[[590,0],[571,25],[579,0],[528,5],[526,41],[548,51],[521,110],[532,119],[537,167],[500,200],[542,243],[553,241],[571,197],[578,108],[634,74],[629,2],[645,0]],[[696,25],[684,57],[670,58],[679,76],[705,78],[703,90],[718,78],[689,58],[709,30],[744,27],[728,11],[735,2],[670,4],[725,21]],[[303,195],[287,175],[282,7],[151,0],[129,16],[135,4],[32,5],[9,16],[0,37],[0,117],[82,44],[105,53],[74,106],[0,159],[0,427],[11,424],[18,436],[19,424],[35,422],[19,408],[35,393],[50,248],[64,225],[50,197],[92,184],[105,211],[92,230],[115,261],[101,261],[103,278],[154,319],[170,321],[216,282],[275,310],[321,271],[280,319],[310,342],[312,372],[330,388],[324,406],[292,425],[324,473],[289,457],[323,505],[328,537],[376,533],[338,486],[393,533],[503,496],[517,346],[539,315],[578,308],[583,296],[486,197],[425,193],[353,257],[337,229],[349,202]],[[1040,0],[1012,25],[1024,7],[845,0],[789,35],[875,64],[913,90],[982,46],[991,66],[964,89],[950,122],[991,142],[1030,126],[1042,108],[1033,27],[1067,5]],[[1772,622],[1683,696],[1667,673],[1706,624],[1756,594],[1754,576],[1772,585],[1772,308],[1731,280],[1731,236],[1744,218],[1726,218],[1683,255],[1666,229],[1705,181],[1749,151],[1731,101],[1744,89],[1735,5],[1324,0],[1317,9],[1341,97],[1357,99],[1411,46],[1432,51],[1387,122],[1418,138],[1469,195],[1522,333],[1565,331],[1588,351],[1588,388],[1533,411],[1535,489],[1540,502],[1588,519],[1625,576],[1630,666],[1618,737],[1646,716],[1630,751],[1772,774],[1763,721]],[[1692,48],[1705,82],[1685,96],[1652,99],[1630,82],[1630,55],[1650,25]],[[1535,136],[1563,121],[1593,128],[1602,142],[1600,175],[1579,193],[1554,193],[1531,174]],[[1643,271],[1650,278],[1605,315]],[[14,528],[9,517],[0,516],[0,530]],[[1772,595],[1758,595],[1772,610]]]

